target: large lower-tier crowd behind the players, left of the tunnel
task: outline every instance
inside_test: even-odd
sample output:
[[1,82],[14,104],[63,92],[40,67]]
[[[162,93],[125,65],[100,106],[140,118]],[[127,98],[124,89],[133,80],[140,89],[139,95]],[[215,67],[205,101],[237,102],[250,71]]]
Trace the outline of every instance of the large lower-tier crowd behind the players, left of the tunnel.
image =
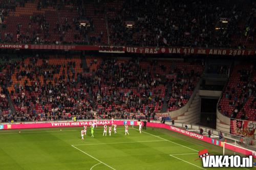
[[[8,74],[12,73],[11,78],[8,76],[10,83],[1,84],[5,84],[6,89],[11,87],[6,93],[13,100],[15,112],[0,114],[2,121],[71,119],[73,116],[77,119],[157,118],[167,92],[165,75],[158,74],[158,70],[148,72],[139,60],[95,59],[93,62],[97,69],[91,76],[82,75],[77,69],[81,64],[72,59],[52,64],[51,59],[30,58],[7,65]],[[152,68],[158,67],[156,61],[143,62]],[[166,74],[172,72],[170,68],[158,69]],[[199,75],[193,71],[174,71],[178,71],[177,79],[172,82],[177,96],[171,98],[188,99],[182,88],[193,90],[193,83],[186,80]]]

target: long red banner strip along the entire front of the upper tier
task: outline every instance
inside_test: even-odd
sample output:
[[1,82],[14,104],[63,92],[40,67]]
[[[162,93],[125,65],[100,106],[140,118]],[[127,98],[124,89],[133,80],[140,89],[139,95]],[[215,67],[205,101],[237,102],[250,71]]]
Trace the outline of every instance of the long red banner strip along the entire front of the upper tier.
[[131,46],[95,46],[95,45],[40,45],[40,44],[0,44],[5,49],[35,49],[35,50],[78,50],[98,51],[100,53],[141,53],[141,54],[205,54],[227,56],[255,55],[256,50],[210,49],[189,47],[131,47]]

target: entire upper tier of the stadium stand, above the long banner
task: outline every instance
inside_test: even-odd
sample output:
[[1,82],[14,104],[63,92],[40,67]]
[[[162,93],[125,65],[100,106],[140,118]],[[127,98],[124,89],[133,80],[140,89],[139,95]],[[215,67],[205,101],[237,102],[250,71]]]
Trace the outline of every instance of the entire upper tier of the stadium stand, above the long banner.
[[12,0],[0,9],[6,43],[255,48],[253,1]]

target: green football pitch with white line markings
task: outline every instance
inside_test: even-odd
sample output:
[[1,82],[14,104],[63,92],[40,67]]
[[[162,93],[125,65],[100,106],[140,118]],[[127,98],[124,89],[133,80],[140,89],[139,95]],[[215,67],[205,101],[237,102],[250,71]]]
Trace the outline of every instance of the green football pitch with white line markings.
[[125,136],[119,126],[117,134],[102,136],[98,127],[85,140],[82,127],[0,131],[0,169],[224,169],[196,161],[198,151],[221,155],[220,147],[165,129],[140,134],[137,128]]

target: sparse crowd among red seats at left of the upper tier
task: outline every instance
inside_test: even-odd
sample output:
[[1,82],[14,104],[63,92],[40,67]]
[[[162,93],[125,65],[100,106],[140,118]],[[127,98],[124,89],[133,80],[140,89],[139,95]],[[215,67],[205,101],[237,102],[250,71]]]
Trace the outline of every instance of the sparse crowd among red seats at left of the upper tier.
[[[15,1],[16,2],[16,1]],[[85,15],[85,3],[76,1],[38,1],[37,10],[51,7],[52,15],[45,13],[23,13],[23,22],[19,21],[16,28],[8,23],[16,20],[15,8],[17,5],[11,1],[3,1],[0,4],[0,24],[6,28],[0,33],[0,42],[32,43],[32,44],[95,44],[99,43],[99,38],[90,36],[95,31],[92,18]],[[19,1],[20,7],[25,7],[25,3],[33,1]],[[12,12],[12,15],[9,13]],[[58,17],[58,15],[60,17]],[[5,19],[5,16],[9,16]],[[86,22],[81,26],[80,21]],[[28,26],[27,26],[28,25]],[[15,29],[15,31],[14,31]],[[100,34],[99,36],[100,37]]]

